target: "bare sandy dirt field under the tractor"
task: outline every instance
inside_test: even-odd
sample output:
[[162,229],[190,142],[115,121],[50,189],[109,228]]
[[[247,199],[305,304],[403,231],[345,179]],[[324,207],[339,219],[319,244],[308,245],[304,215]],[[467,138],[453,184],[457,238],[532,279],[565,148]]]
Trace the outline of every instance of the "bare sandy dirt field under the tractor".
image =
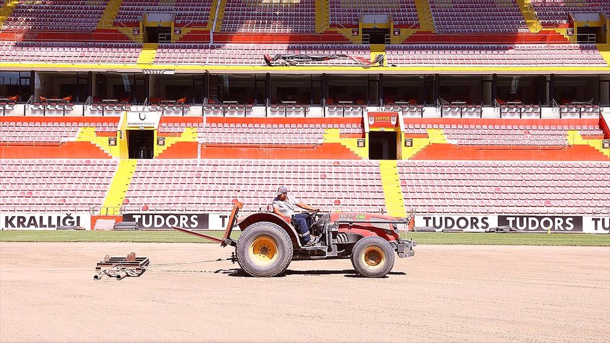
[[[156,266],[93,280],[96,261],[131,251]],[[420,245],[378,280],[349,260],[271,279],[203,262],[230,255],[0,242],[0,341],[610,341],[610,247]]]

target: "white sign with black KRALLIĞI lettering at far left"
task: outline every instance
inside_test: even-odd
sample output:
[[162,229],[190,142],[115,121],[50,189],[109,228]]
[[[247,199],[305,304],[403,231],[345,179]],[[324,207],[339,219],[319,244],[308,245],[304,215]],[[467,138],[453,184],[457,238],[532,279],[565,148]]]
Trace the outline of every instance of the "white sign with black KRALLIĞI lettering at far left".
[[2,213],[0,229],[3,230],[56,230],[59,226],[80,226],[90,229],[88,213]]

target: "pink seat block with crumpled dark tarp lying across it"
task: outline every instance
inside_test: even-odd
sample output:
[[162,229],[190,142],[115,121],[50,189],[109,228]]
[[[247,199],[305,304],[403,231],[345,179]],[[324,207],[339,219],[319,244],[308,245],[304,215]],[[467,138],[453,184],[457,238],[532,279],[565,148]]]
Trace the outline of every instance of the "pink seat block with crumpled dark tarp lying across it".
[[[280,44],[161,44],[154,63],[206,65],[265,65],[264,56],[274,54],[330,55],[348,54],[370,60],[370,48],[365,45],[280,45]],[[287,65],[278,60],[273,65]],[[361,65],[353,59],[331,59],[321,62],[300,62],[299,65]]]

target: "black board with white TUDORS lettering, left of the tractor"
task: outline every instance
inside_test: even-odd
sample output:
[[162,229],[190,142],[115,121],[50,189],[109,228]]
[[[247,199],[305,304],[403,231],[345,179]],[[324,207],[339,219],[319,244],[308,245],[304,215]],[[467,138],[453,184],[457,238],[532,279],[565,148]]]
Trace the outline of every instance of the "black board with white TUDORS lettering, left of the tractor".
[[207,230],[209,215],[172,213],[129,213],[123,215],[123,222],[137,222],[141,230],[166,230],[173,226],[185,229]]

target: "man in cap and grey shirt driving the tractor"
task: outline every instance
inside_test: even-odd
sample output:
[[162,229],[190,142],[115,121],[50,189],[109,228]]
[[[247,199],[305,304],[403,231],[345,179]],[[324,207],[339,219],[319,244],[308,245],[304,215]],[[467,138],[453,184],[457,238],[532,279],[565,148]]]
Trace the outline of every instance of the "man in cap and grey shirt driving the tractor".
[[279,187],[278,192],[276,192],[275,195],[276,198],[273,199],[273,212],[286,218],[288,222],[290,222],[290,218],[293,218],[296,231],[301,237],[301,242],[303,242],[304,246],[310,247],[314,245],[315,239],[309,234],[309,225],[307,224],[309,214],[295,214],[295,206],[306,209],[307,211],[316,211],[316,209],[302,201],[296,200],[295,197],[288,195],[288,190],[284,186]]

